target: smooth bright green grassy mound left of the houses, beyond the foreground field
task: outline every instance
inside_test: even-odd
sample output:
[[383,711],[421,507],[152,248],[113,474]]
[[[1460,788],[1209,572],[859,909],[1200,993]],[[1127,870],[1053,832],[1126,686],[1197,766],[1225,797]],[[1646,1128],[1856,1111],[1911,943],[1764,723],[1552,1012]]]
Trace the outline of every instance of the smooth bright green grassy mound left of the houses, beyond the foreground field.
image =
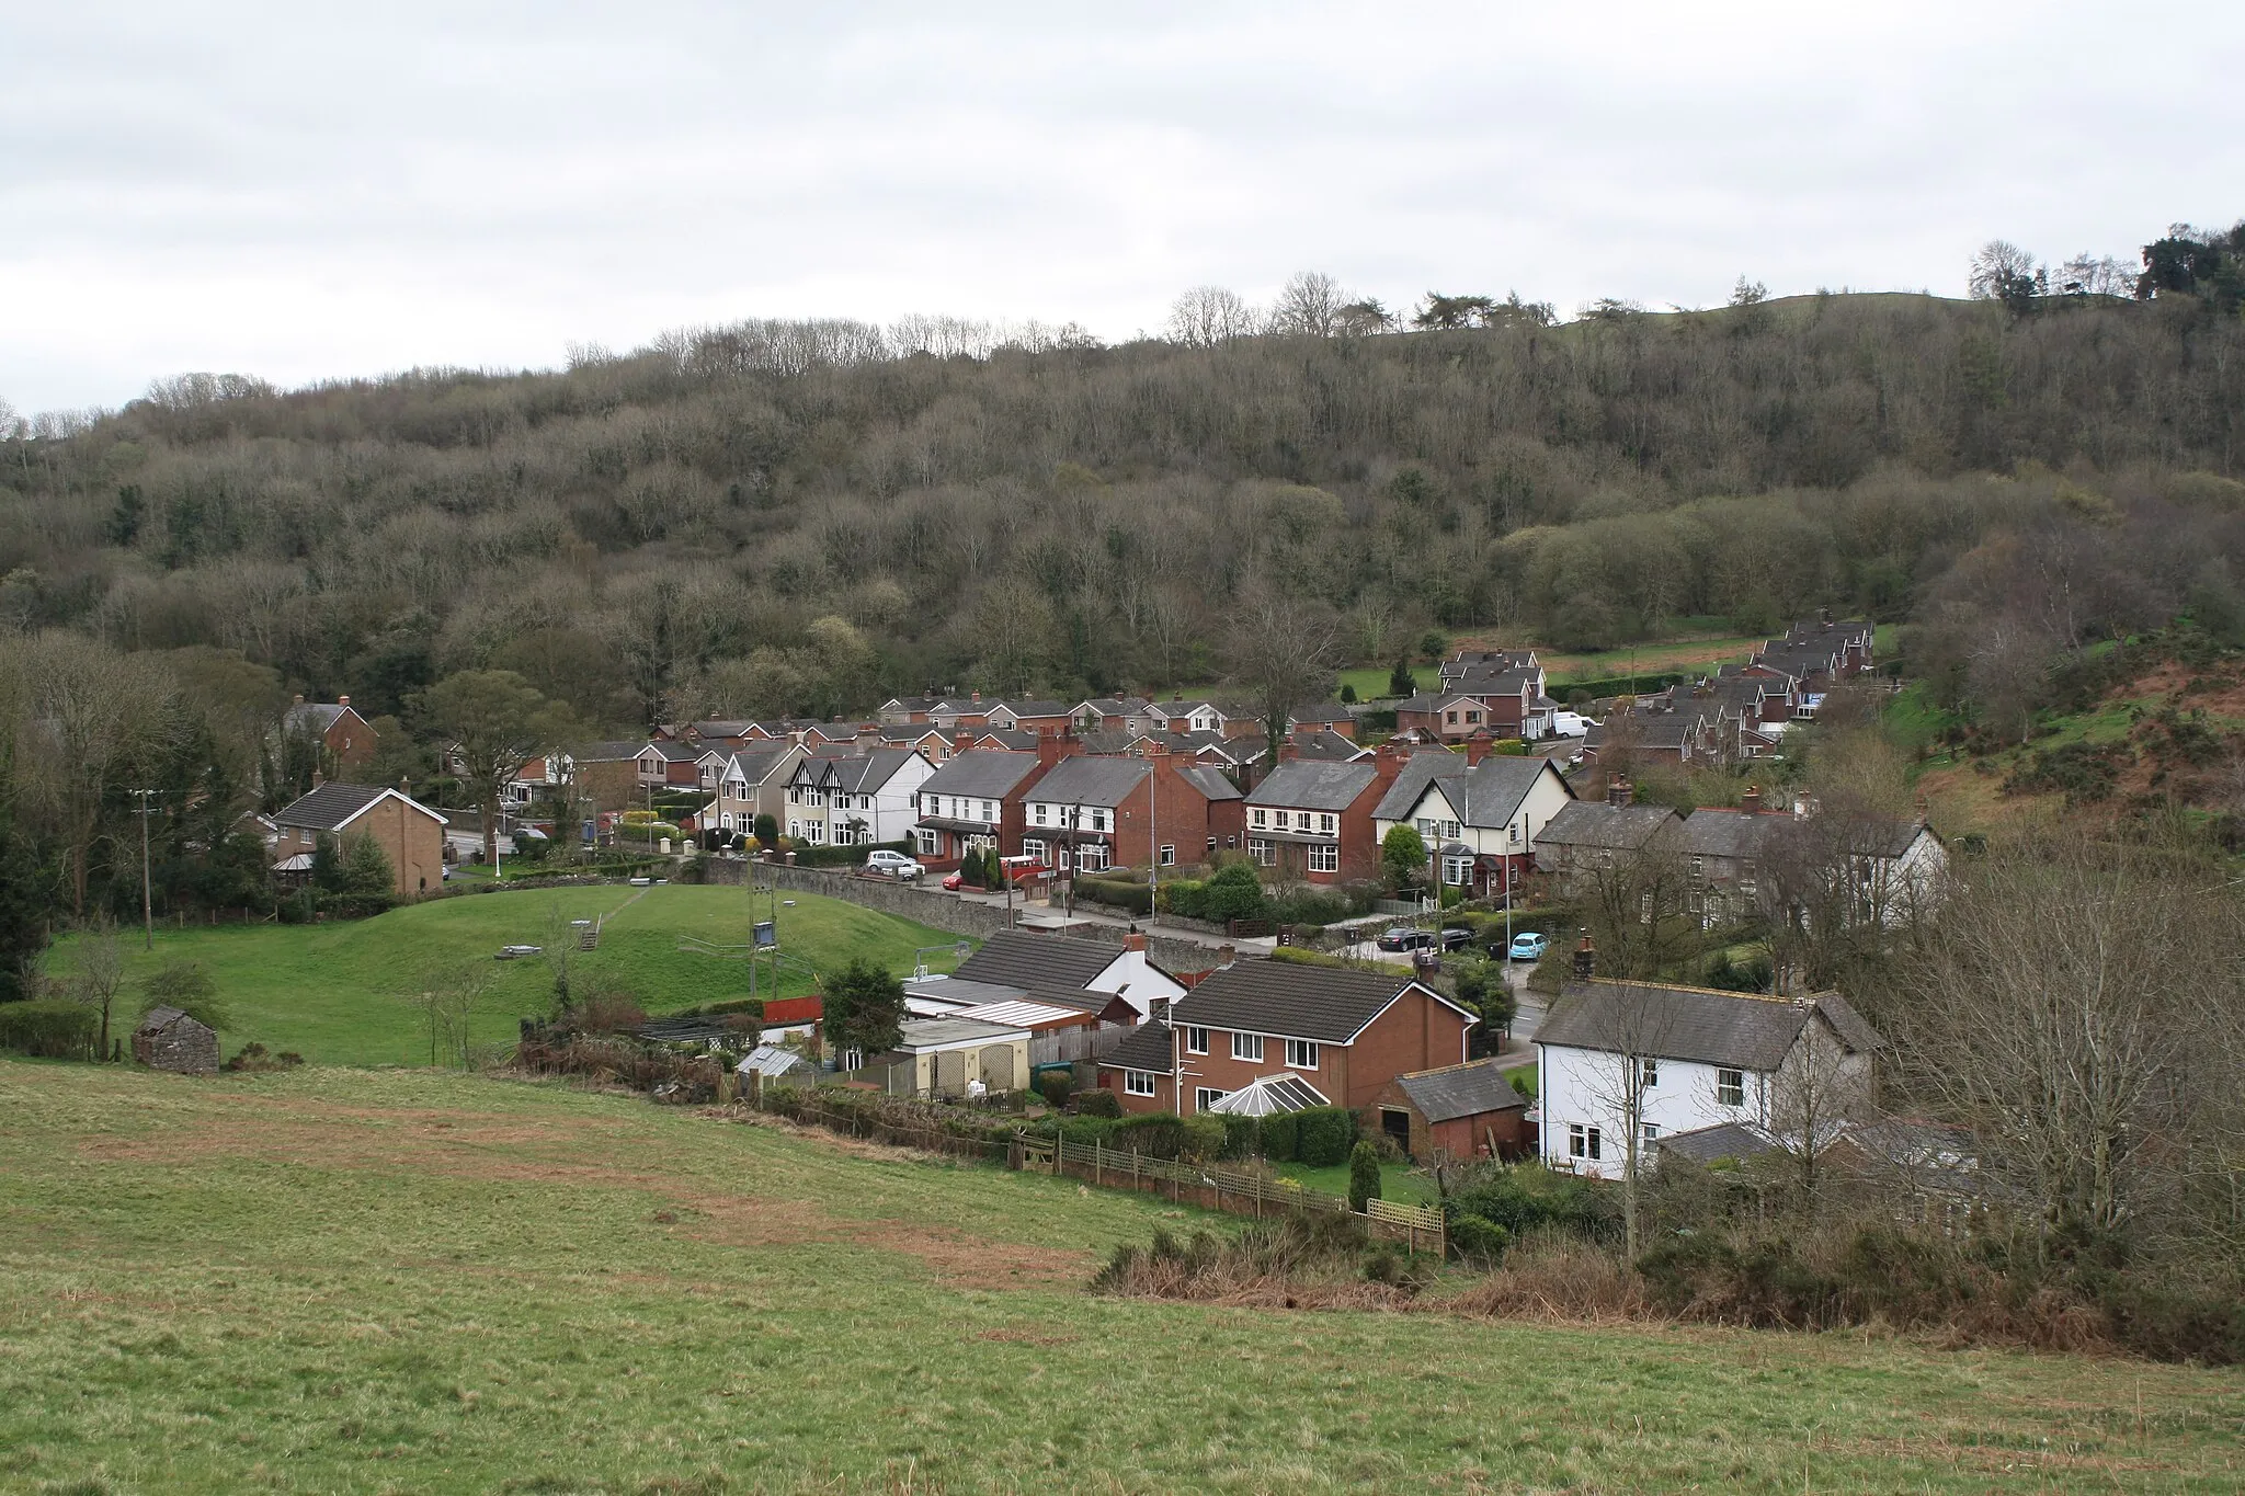
[[[929,955],[929,969],[956,964],[954,935],[842,899],[792,897],[792,908],[779,908],[779,942],[813,969],[867,955],[907,973],[914,949],[936,944],[945,949]],[[427,971],[492,969],[496,985],[474,1029],[480,1041],[510,1043],[523,1014],[550,1007],[552,971],[543,960],[494,962],[498,946],[550,946],[572,938],[570,920],[606,915],[599,949],[577,955],[579,973],[629,987],[640,1007],[665,1014],[748,996],[743,962],[680,951],[678,938],[745,944],[752,917],[766,913],[766,899],[750,908],[745,888],[532,888],[436,899],[335,924],[159,929],[153,953],[139,949],[135,931],[126,949],[135,976],[173,955],[204,962],[231,1009],[233,1025],[220,1034],[229,1052],[258,1041],[317,1065],[424,1065],[429,1032],[402,994],[415,991]],[[52,971],[67,976],[74,962],[76,942],[63,940]],[[808,989],[808,978],[797,973],[781,987],[786,996]],[[763,987],[759,994],[770,996]]]

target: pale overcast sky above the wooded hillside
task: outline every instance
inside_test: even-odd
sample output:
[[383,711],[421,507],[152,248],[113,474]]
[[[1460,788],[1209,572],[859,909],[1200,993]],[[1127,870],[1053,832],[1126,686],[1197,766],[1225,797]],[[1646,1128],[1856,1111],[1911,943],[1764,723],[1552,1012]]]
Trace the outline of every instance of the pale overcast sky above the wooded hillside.
[[[2245,9],[0,4],[0,397],[739,316],[1962,294],[2245,213]],[[1071,16],[1082,11],[1084,16]],[[1821,13],[1818,13],[1821,11]]]

